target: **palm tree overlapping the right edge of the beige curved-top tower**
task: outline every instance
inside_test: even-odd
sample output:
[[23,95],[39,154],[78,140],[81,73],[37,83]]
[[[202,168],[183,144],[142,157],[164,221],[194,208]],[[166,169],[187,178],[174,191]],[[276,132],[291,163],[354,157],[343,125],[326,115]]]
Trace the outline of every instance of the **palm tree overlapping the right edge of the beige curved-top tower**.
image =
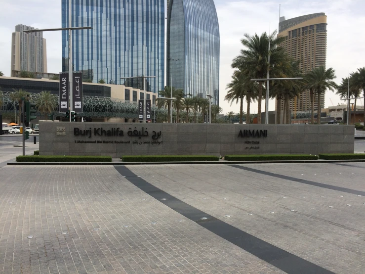
[[330,91],[334,91],[334,89],[337,89],[337,84],[332,81],[336,78],[335,71],[332,68],[326,70],[324,66],[321,66],[310,71],[307,75],[307,88],[312,88],[318,95],[317,124],[320,125],[322,111],[321,94],[324,93],[327,89]]

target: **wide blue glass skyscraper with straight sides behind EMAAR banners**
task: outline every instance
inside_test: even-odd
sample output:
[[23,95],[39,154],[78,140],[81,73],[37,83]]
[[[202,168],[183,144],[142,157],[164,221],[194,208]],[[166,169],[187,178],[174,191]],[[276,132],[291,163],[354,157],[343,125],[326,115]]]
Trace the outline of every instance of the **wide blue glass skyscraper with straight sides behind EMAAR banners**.
[[[62,0],[62,27],[68,27],[69,0]],[[74,71],[97,83],[143,89],[164,87],[164,0],[72,0]],[[68,71],[68,32],[62,32],[62,71]],[[146,65],[144,65],[146,64]]]

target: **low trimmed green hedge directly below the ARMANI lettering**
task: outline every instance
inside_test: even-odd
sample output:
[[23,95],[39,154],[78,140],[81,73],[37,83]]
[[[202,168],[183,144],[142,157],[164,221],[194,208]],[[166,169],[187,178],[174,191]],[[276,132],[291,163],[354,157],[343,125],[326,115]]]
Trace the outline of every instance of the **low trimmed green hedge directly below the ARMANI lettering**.
[[226,155],[227,161],[292,161],[292,160],[318,160],[316,155],[296,154],[271,154],[271,155]]

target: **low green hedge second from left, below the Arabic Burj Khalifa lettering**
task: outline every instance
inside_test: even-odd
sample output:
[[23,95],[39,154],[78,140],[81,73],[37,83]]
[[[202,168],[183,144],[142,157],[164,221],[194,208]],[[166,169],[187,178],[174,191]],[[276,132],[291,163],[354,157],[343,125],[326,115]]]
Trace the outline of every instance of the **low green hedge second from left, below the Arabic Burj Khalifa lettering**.
[[206,155],[134,155],[122,156],[122,162],[211,162],[219,157]]

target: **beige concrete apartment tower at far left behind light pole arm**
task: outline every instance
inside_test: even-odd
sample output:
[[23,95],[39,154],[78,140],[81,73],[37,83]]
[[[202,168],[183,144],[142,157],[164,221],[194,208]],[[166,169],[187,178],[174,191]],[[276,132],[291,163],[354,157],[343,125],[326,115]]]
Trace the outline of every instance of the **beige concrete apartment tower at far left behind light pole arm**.
[[46,42],[42,32],[25,33],[35,28],[22,24],[15,26],[11,35],[11,76],[13,71],[47,72]]

